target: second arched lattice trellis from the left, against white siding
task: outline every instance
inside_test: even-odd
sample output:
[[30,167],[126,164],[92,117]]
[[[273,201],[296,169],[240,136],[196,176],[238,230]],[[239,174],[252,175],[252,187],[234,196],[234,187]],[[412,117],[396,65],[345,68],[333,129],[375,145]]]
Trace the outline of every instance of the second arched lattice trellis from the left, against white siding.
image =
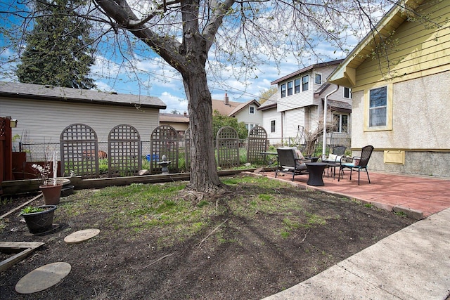
[[121,124],[108,134],[108,176],[134,176],[142,169],[141,136],[134,126]]

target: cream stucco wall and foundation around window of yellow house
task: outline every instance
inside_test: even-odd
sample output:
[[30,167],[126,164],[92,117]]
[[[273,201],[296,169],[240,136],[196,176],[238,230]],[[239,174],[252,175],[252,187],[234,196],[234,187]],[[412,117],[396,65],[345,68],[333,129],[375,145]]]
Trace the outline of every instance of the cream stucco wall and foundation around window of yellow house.
[[[364,132],[364,91],[353,94],[352,150],[374,145],[371,169],[450,176],[450,72],[402,81],[392,88],[390,131]],[[385,150],[405,151],[405,163],[385,164]]]

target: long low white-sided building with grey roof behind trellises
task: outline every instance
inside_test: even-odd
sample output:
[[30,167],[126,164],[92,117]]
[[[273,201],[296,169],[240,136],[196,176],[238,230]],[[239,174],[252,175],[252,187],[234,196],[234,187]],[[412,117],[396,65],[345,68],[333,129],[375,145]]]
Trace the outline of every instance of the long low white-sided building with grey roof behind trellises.
[[119,124],[134,126],[141,141],[150,141],[150,133],[160,124],[159,112],[165,108],[157,97],[0,81],[1,116],[18,120],[13,136],[18,134],[22,143],[40,144],[39,155],[31,153],[35,155],[29,159],[42,159],[46,145],[59,152],[54,144],[59,143],[60,133],[75,123],[91,126],[104,151],[108,133]]

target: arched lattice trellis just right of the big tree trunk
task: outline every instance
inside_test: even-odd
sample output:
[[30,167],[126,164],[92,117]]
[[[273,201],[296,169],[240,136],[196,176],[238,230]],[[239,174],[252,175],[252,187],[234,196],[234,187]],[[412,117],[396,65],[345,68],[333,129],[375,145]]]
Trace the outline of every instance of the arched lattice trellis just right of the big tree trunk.
[[217,131],[217,166],[239,166],[239,136],[231,126],[224,126]]

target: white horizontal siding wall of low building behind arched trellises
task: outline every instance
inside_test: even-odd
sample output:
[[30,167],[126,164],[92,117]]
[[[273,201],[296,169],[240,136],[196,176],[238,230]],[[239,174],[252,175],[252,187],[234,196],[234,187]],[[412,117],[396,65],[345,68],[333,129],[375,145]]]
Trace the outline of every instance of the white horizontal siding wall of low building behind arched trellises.
[[[20,105],[18,105],[20,103]],[[22,100],[2,98],[0,112],[3,116],[18,119],[13,135],[27,136],[25,143],[59,143],[60,133],[66,126],[82,123],[97,133],[98,142],[105,142],[101,150],[107,150],[108,133],[114,126],[134,126],[142,141],[150,141],[150,133],[159,124],[159,110],[112,105],[63,103],[49,100]],[[56,149],[56,150],[59,150]]]

